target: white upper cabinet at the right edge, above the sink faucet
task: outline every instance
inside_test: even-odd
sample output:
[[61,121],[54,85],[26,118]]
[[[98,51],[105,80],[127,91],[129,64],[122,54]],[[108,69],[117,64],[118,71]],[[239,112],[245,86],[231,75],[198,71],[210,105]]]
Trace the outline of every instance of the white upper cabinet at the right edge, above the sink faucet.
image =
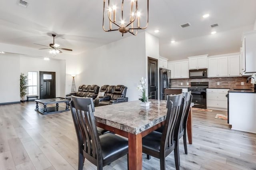
[[244,33],[242,36],[242,71],[256,73],[256,31]]

